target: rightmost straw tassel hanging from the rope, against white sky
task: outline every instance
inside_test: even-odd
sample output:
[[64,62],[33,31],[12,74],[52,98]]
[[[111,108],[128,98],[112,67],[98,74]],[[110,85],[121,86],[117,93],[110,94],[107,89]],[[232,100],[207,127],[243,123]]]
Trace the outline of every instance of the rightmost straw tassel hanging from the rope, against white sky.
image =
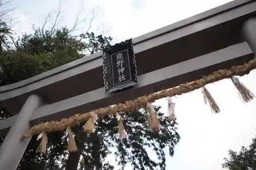
[[247,87],[245,87],[237,77],[232,76],[231,80],[238,90],[240,99],[244,103],[250,102],[255,97],[254,94]]

